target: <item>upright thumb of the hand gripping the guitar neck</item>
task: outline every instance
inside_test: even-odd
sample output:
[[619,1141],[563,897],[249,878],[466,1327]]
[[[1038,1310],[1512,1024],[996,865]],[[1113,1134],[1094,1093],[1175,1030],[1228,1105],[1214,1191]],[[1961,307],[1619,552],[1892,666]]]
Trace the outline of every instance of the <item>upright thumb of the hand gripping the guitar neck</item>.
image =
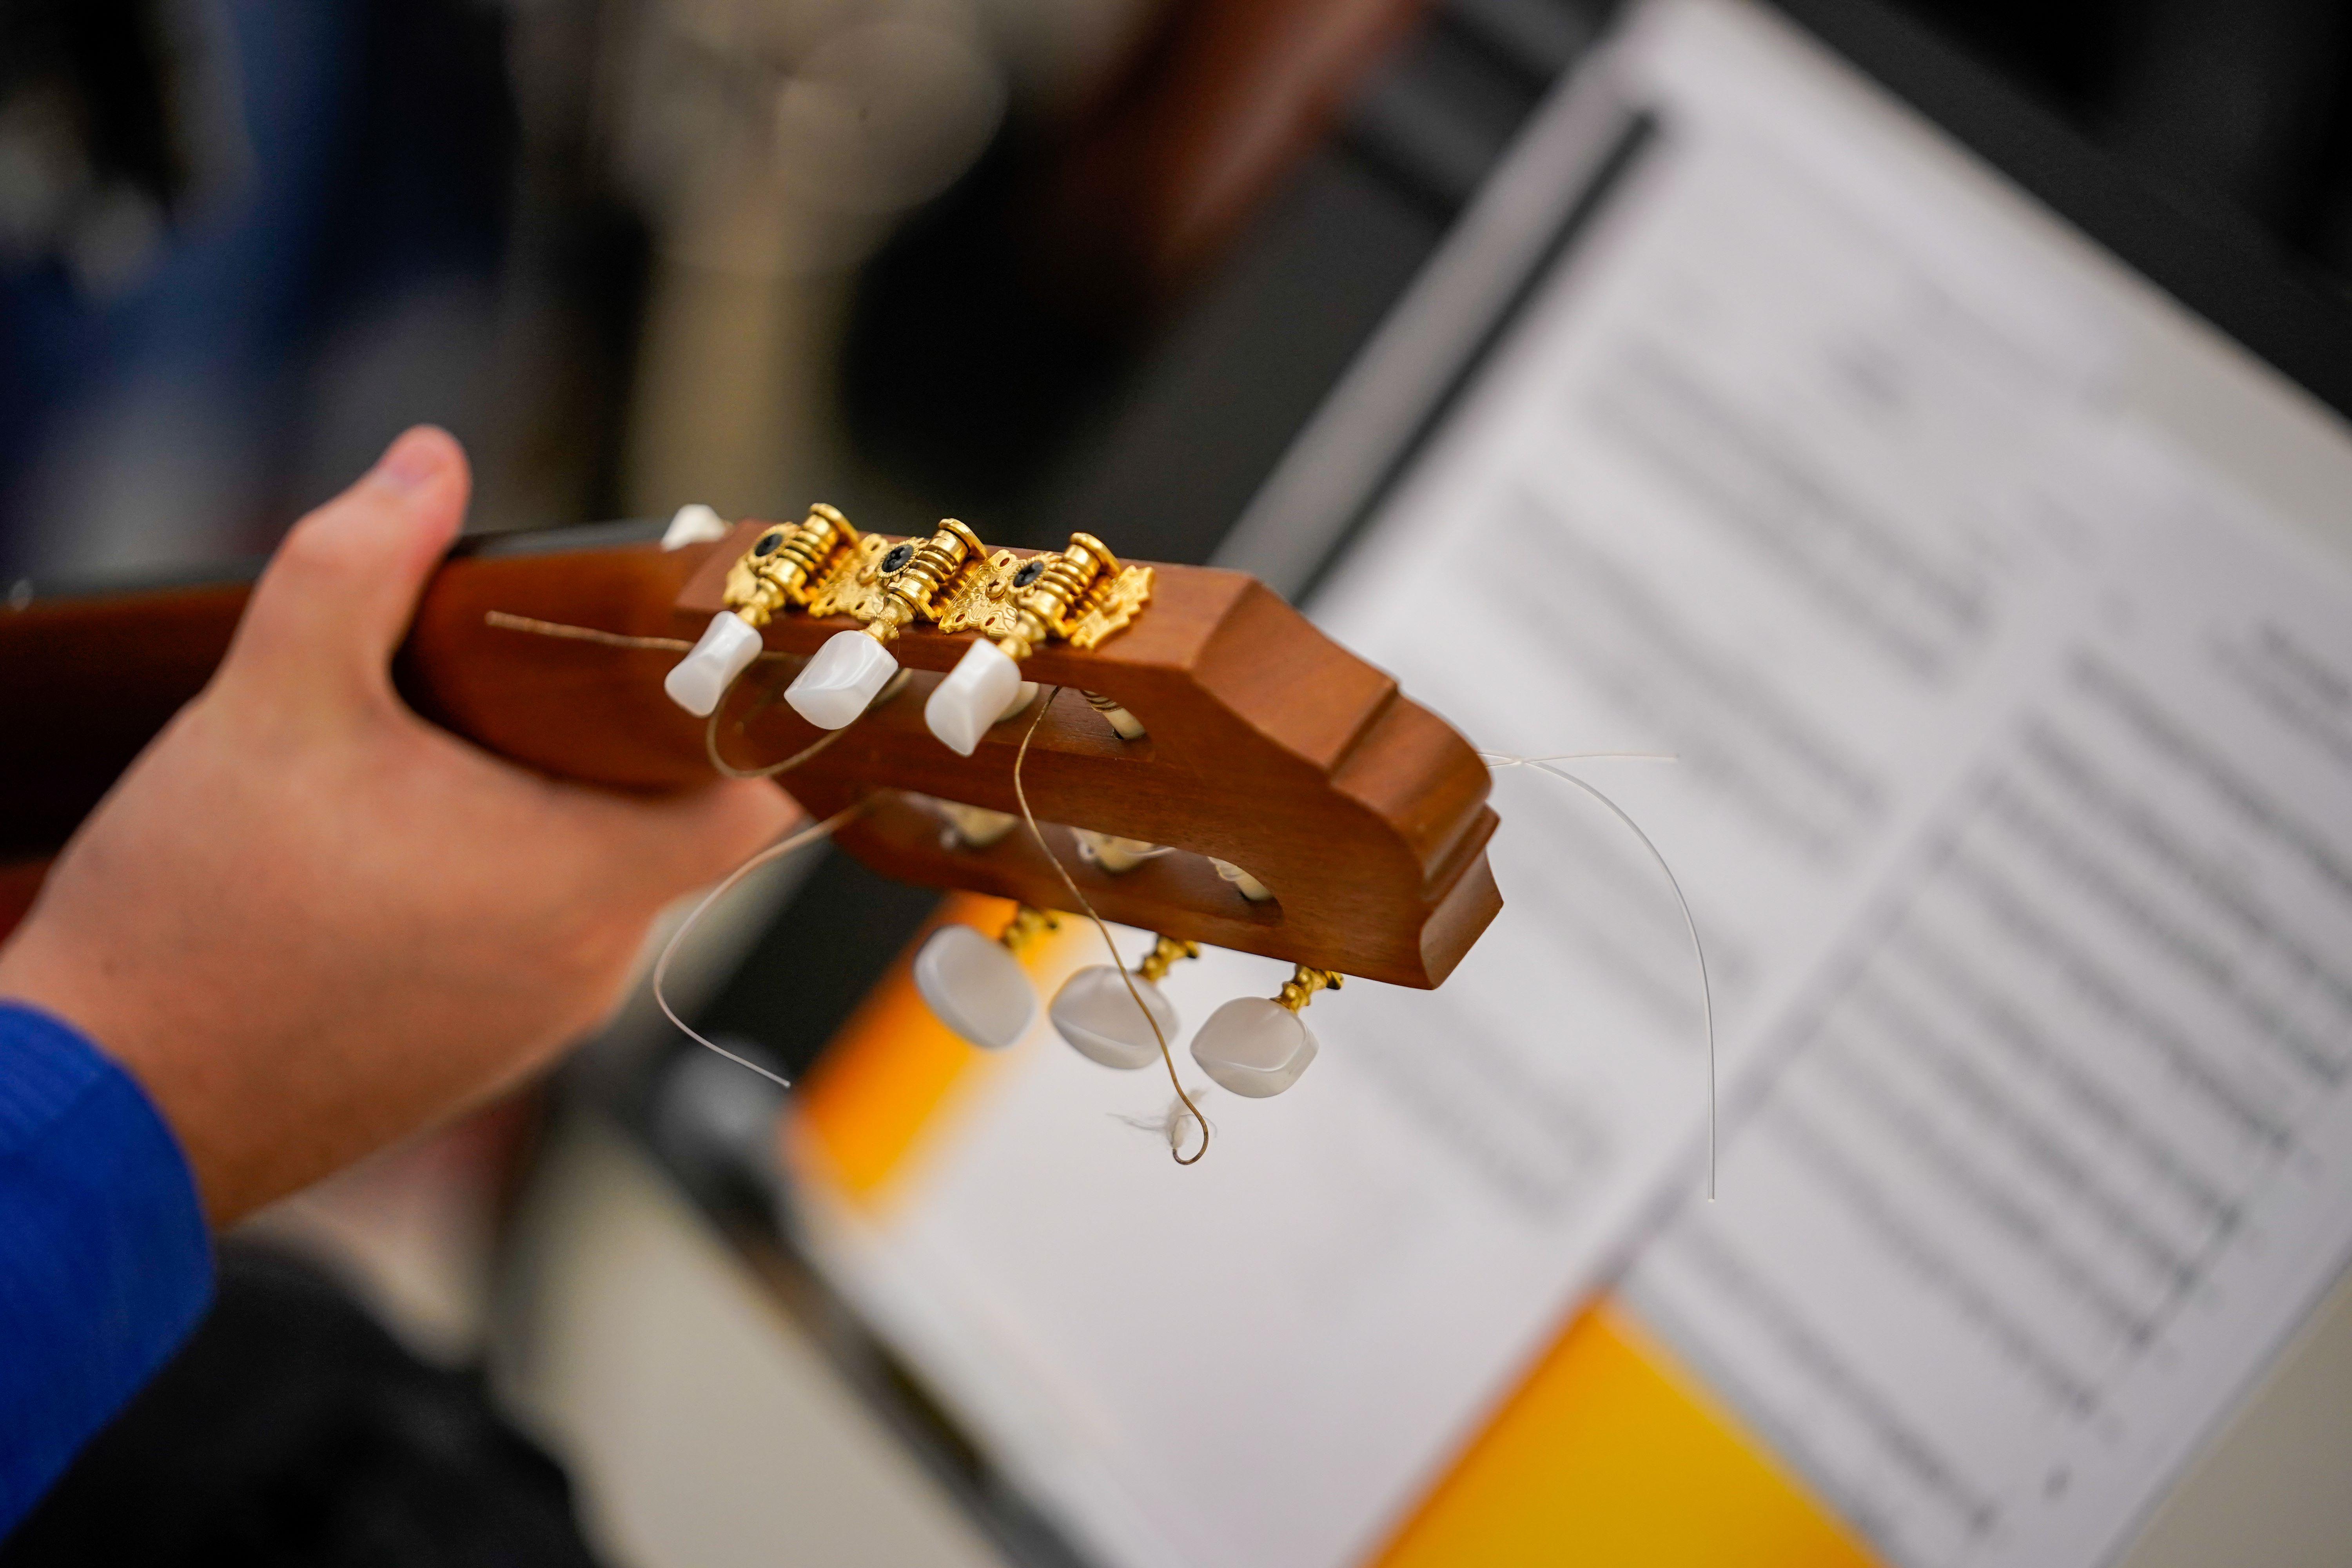
[[470,489],[454,435],[407,430],[358,484],[287,531],[228,665],[339,701],[390,691],[393,649],[466,520]]

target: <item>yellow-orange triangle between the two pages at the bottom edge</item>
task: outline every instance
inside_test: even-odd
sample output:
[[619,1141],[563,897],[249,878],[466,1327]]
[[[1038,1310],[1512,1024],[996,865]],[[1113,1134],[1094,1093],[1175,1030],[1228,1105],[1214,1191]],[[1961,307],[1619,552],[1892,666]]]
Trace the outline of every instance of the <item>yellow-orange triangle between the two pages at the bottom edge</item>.
[[1378,1568],[1875,1568],[1623,1307],[1588,1307]]

